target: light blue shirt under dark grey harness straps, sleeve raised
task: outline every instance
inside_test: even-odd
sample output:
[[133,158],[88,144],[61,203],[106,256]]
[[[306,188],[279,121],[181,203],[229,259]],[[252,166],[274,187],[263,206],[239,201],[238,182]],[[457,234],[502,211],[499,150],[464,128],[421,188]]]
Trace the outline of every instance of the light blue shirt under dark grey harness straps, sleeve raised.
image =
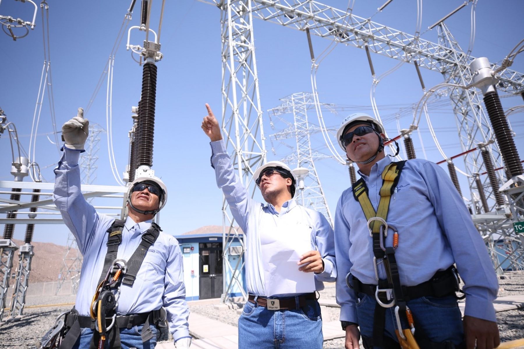
[[[84,257],[75,308],[80,315],[90,315],[89,308],[107,252],[107,229],[115,219],[96,212],[85,201],[80,192],[79,155],[80,151],[64,149],[54,170],[53,201]],[[117,258],[129,260],[142,240],[141,234],[150,226],[151,221],[135,223],[127,217]],[[147,313],[160,307],[167,310],[173,340],[188,337],[189,308],[185,301],[182,253],[177,239],[163,232],[149,247],[133,287],[122,284],[117,313]]]

